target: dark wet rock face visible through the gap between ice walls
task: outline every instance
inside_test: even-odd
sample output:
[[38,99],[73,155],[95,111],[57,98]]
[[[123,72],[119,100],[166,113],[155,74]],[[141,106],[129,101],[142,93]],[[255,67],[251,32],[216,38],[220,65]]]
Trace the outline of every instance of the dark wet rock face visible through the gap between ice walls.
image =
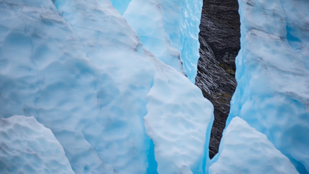
[[217,152],[236,88],[235,57],[240,49],[237,0],[204,0],[196,85],[214,104],[210,158]]

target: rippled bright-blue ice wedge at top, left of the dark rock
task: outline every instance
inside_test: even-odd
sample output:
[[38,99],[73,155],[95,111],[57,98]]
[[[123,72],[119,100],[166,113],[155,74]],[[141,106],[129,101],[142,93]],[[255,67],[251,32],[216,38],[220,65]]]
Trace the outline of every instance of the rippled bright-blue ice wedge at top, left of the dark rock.
[[132,0],[123,16],[148,51],[195,83],[202,5],[201,0]]

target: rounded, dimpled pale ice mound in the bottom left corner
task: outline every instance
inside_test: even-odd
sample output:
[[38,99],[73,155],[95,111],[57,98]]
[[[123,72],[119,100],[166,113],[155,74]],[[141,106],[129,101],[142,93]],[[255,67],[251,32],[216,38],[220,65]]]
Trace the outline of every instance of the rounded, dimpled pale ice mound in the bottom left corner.
[[73,170],[52,131],[34,117],[0,119],[0,173],[70,173]]

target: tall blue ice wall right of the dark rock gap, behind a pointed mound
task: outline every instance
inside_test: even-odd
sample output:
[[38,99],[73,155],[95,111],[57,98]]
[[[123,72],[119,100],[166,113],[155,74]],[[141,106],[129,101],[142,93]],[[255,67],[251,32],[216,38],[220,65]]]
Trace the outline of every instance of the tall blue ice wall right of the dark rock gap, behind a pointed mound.
[[227,124],[239,116],[309,172],[309,1],[239,0],[238,86]]

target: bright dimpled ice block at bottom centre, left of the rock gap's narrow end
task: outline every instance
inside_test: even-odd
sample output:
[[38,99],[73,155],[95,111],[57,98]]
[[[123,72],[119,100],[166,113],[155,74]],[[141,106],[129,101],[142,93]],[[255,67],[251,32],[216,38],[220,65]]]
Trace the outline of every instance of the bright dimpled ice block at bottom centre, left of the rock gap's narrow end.
[[[176,76],[175,69],[169,71],[160,70],[155,74],[154,85],[146,96],[145,128],[155,144],[157,171],[203,173],[205,163],[210,163],[208,144],[214,117],[194,115],[213,113],[214,108],[210,101],[205,102],[200,97],[200,89],[192,86],[176,88],[184,80],[190,81],[183,79],[181,74]],[[179,104],[183,100],[187,102]]]

